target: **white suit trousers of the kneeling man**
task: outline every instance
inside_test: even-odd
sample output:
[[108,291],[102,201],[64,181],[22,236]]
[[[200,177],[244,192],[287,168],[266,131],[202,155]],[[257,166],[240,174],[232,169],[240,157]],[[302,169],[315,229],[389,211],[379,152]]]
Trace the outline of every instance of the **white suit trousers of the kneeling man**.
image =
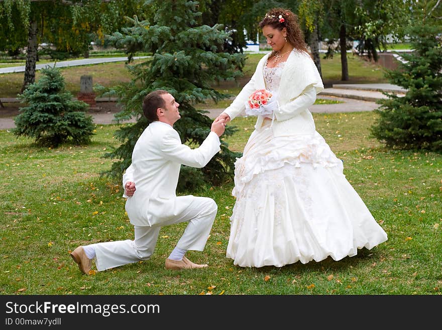
[[157,244],[158,234],[162,226],[188,222],[183,235],[176,247],[182,250],[202,251],[207,242],[217,205],[208,197],[178,196],[177,199],[188,199],[188,206],[176,213],[176,216],[164,223],[152,227],[134,226],[135,240],[105,242],[92,244],[95,249],[95,264],[98,271],[148,260]]

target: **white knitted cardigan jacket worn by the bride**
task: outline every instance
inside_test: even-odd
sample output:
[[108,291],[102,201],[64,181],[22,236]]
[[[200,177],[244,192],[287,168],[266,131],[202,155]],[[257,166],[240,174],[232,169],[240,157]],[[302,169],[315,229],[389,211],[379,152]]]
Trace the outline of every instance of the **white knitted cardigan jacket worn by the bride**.
[[[270,54],[271,52],[261,58],[250,81],[225,109],[224,112],[231,120],[245,109],[245,102],[252,92],[257,89],[267,89],[264,66]],[[310,55],[292,51],[285,62],[279,89],[276,91],[278,108],[274,111],[272,123],[274,136],[313,134],[314,121],[307,107],[314,103],[316,94],[323,88],[321,76]],[[312,90],[313,94],[309,90]],[[263,120],[263,116],[258,116],[256,129],[261,127]]]

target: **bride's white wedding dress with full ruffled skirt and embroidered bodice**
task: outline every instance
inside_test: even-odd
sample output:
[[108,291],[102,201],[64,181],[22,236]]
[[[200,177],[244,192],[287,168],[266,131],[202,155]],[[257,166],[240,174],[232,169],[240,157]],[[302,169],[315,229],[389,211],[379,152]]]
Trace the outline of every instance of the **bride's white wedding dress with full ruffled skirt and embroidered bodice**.
[[[283,65],[264,69],[271,91]],[[235,163],[232,194],[227,257],[241,267],[341,260],[387,240],[316,131],[274,137],[271,120],[264,120]]]

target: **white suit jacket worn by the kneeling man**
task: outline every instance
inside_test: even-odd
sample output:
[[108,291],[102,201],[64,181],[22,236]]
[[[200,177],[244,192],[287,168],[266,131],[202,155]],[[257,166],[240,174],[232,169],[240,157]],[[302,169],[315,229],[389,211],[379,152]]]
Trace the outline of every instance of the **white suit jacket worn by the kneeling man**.
[[[135,182],[136,191],[126,201],[126,212],[131,224],[153,226],[174,216],[173,210],[186,205],[176,205],[176,186],[181,164],[204,167],[220,150],[219,138],[210,132],[195,149],[181,143],[178,132],[162,122],[151,123],[141,134],[132,153],[132,164],[123,175]],[[125,195],[124,195],[125,196]]]

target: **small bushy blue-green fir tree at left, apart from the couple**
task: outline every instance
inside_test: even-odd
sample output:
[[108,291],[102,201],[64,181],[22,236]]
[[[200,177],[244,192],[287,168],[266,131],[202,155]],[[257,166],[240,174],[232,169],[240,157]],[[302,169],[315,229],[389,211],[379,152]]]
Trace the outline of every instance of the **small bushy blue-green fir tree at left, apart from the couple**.
[[57,68],[42,69],[41,78],[30,84],[19,98],[27,106],[21,107],[14,119],[15,135],[33,138],[36,144],[51,147],[90,142],[95,125],[92,116],[85,113],[89,105],[72,99]]

